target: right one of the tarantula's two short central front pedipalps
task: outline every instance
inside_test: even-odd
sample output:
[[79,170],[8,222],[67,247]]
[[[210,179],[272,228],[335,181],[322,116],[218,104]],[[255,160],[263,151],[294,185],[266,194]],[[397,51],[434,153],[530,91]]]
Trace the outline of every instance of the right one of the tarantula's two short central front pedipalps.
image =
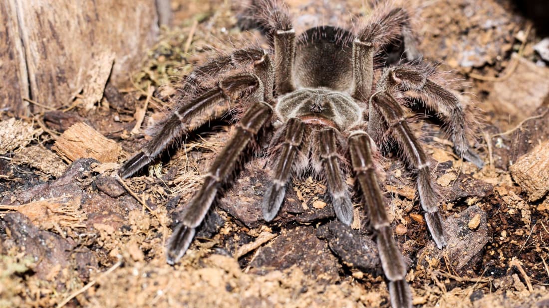
[[332,127],[320,130],[318,132],[319,142],[316,142],[317,149],[315,150],[320,153],[335,216],[341,223],[350,226],[352,223],[352,202],[345,183],[345,176],[339,166],[341,158],[338,153],[336,133]]

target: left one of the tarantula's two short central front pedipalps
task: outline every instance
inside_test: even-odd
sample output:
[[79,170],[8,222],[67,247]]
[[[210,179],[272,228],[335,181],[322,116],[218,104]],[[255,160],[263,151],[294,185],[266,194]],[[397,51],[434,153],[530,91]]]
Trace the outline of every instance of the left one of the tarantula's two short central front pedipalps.
[[286,194],[286,185],[292,176],[295,157],[303,142],[305,124],[298,118],[290,118],[285,125],[284,141],[273,168],[271,186],[265,192],[262,202],[263,218],[271,221],[280,209]]

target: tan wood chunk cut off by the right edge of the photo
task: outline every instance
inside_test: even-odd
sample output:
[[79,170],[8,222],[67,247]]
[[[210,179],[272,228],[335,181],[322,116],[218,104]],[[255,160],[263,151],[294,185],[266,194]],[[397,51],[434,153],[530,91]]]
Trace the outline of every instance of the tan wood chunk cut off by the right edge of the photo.
[[549,140],[519,157],[509,167],[513,179],[528,192],[528,200],[535,201],[549,191]]

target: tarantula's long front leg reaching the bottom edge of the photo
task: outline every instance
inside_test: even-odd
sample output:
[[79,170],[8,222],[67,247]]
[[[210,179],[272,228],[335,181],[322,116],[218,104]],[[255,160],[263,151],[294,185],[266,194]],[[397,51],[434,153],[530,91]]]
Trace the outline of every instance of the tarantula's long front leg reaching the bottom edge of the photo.
[[365,214],[376,233],[383,272],[389,280],[391,304],[393,307],[412,307],[410,286],[405,280],[406,264],[393,238],[376,175],[376,146],[367,133],[355,131],[349,136],[349,152],[352,169],[365,199]]

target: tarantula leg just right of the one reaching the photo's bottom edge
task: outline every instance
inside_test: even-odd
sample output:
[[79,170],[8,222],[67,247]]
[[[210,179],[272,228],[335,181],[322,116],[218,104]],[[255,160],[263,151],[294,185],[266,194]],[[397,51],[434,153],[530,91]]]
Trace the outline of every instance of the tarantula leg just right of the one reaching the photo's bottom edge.
[[381,113],[389,126],[391,135],[402,150],[402,157],[408,167],[417,173],[417,189],[419,200],[425,211],[425,221],[433,236],[436,246],[446,246],[444,226],[438,212],[439,195],[435,190],[430,173],[430,163],[416,136],[413,135],[402,107],[388,92],[382,91],[372,95],[372,107]]

